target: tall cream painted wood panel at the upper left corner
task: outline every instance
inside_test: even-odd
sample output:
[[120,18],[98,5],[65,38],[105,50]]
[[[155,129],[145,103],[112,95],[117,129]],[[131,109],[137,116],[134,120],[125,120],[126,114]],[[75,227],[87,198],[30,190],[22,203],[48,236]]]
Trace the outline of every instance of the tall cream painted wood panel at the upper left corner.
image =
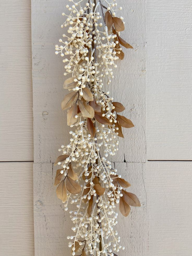
[[0,161],[32,161],[31,0],[0,1],[0,33]]

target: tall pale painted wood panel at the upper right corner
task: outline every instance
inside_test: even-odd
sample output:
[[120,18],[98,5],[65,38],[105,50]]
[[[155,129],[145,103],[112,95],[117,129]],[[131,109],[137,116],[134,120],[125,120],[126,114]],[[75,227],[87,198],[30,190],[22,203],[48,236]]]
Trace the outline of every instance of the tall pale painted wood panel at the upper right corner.
[[147,2],[147,159],[192,159],[190,0]]

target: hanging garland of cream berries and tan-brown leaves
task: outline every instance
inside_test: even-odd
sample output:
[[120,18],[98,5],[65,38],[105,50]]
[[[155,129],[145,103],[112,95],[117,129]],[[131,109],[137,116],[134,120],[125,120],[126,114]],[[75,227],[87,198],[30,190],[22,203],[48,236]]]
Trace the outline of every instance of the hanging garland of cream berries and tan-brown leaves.
[[[68,27],[68,35],[55,46],[60,53],[70,78],[63,88],[70,91],[64,97],[62,110],[68,109],[67,124],[75,128],[67,146],[59,149],[62,155],[55,165],[61,165],[55,177],[57,197],[64,203],[76,205],[70,211],[74,235],[70,239],[72,255],[113,256],[117,255],[120,237],[116,206],[123,216],[128,216],[131,206],[140,206],[136,195],[127,192],[130,184],[125,181],[107,160],[118,150],[117,135],[123,138],[122,127],[134,127],[126,117],[119,115],[125,110],[119,102],[113,102],[109,92],[103,91],[103,79],[109,85],[113,78],[115,61],[123,59],[121,46],[133,48],[119,34],[124,30],[123,17],[116,17],[116,0],[89,0],[82,7],[83,0],[72,6],[61,27]],[[104,10],[106,9],[106,11]],[[122,7],[119,7],[121,10]],[[101,10],[101,15],[99,13]],[[66,40],[66,41],[65,41]],[[68,57],[68,58],[67,58]],[[102,153],[101,153],[102,151]],[[101,156],[102,155],[102,156]]]

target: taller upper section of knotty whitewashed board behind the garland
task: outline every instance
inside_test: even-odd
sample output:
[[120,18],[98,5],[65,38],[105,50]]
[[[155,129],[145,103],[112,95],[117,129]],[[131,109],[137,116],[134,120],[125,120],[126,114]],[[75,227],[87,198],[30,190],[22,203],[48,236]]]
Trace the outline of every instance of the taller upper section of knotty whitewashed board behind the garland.
[[[34,162],[54,162],[58,148],[68,144],[70,128],[67,111],[62,113],[61,102],[67,93],[63,90],[64,68],[62,58],[55,55],[55,44],[66,28],[60,25],[65,19],[61,13],[67,0],[32,0],[32,55],[33,55],[33,111],[34,111]],[[122,102],[123,114],[135,124],[124,129],[120,149],[111,159],[115,162],[145,162],[145,87],[146,87],[146,1],[121,1],[126,32],[122,37],[133,45],[125,49],[125,58],[118,61],[109,91],[114,100]],[[106,86],[107,88],[107,86]]]

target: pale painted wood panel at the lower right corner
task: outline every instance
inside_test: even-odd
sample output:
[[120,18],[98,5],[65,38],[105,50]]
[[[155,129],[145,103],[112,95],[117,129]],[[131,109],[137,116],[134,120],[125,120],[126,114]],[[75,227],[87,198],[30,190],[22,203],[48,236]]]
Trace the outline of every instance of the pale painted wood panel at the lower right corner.
[[192,254],[192,162],[147,162],[147,256]]

